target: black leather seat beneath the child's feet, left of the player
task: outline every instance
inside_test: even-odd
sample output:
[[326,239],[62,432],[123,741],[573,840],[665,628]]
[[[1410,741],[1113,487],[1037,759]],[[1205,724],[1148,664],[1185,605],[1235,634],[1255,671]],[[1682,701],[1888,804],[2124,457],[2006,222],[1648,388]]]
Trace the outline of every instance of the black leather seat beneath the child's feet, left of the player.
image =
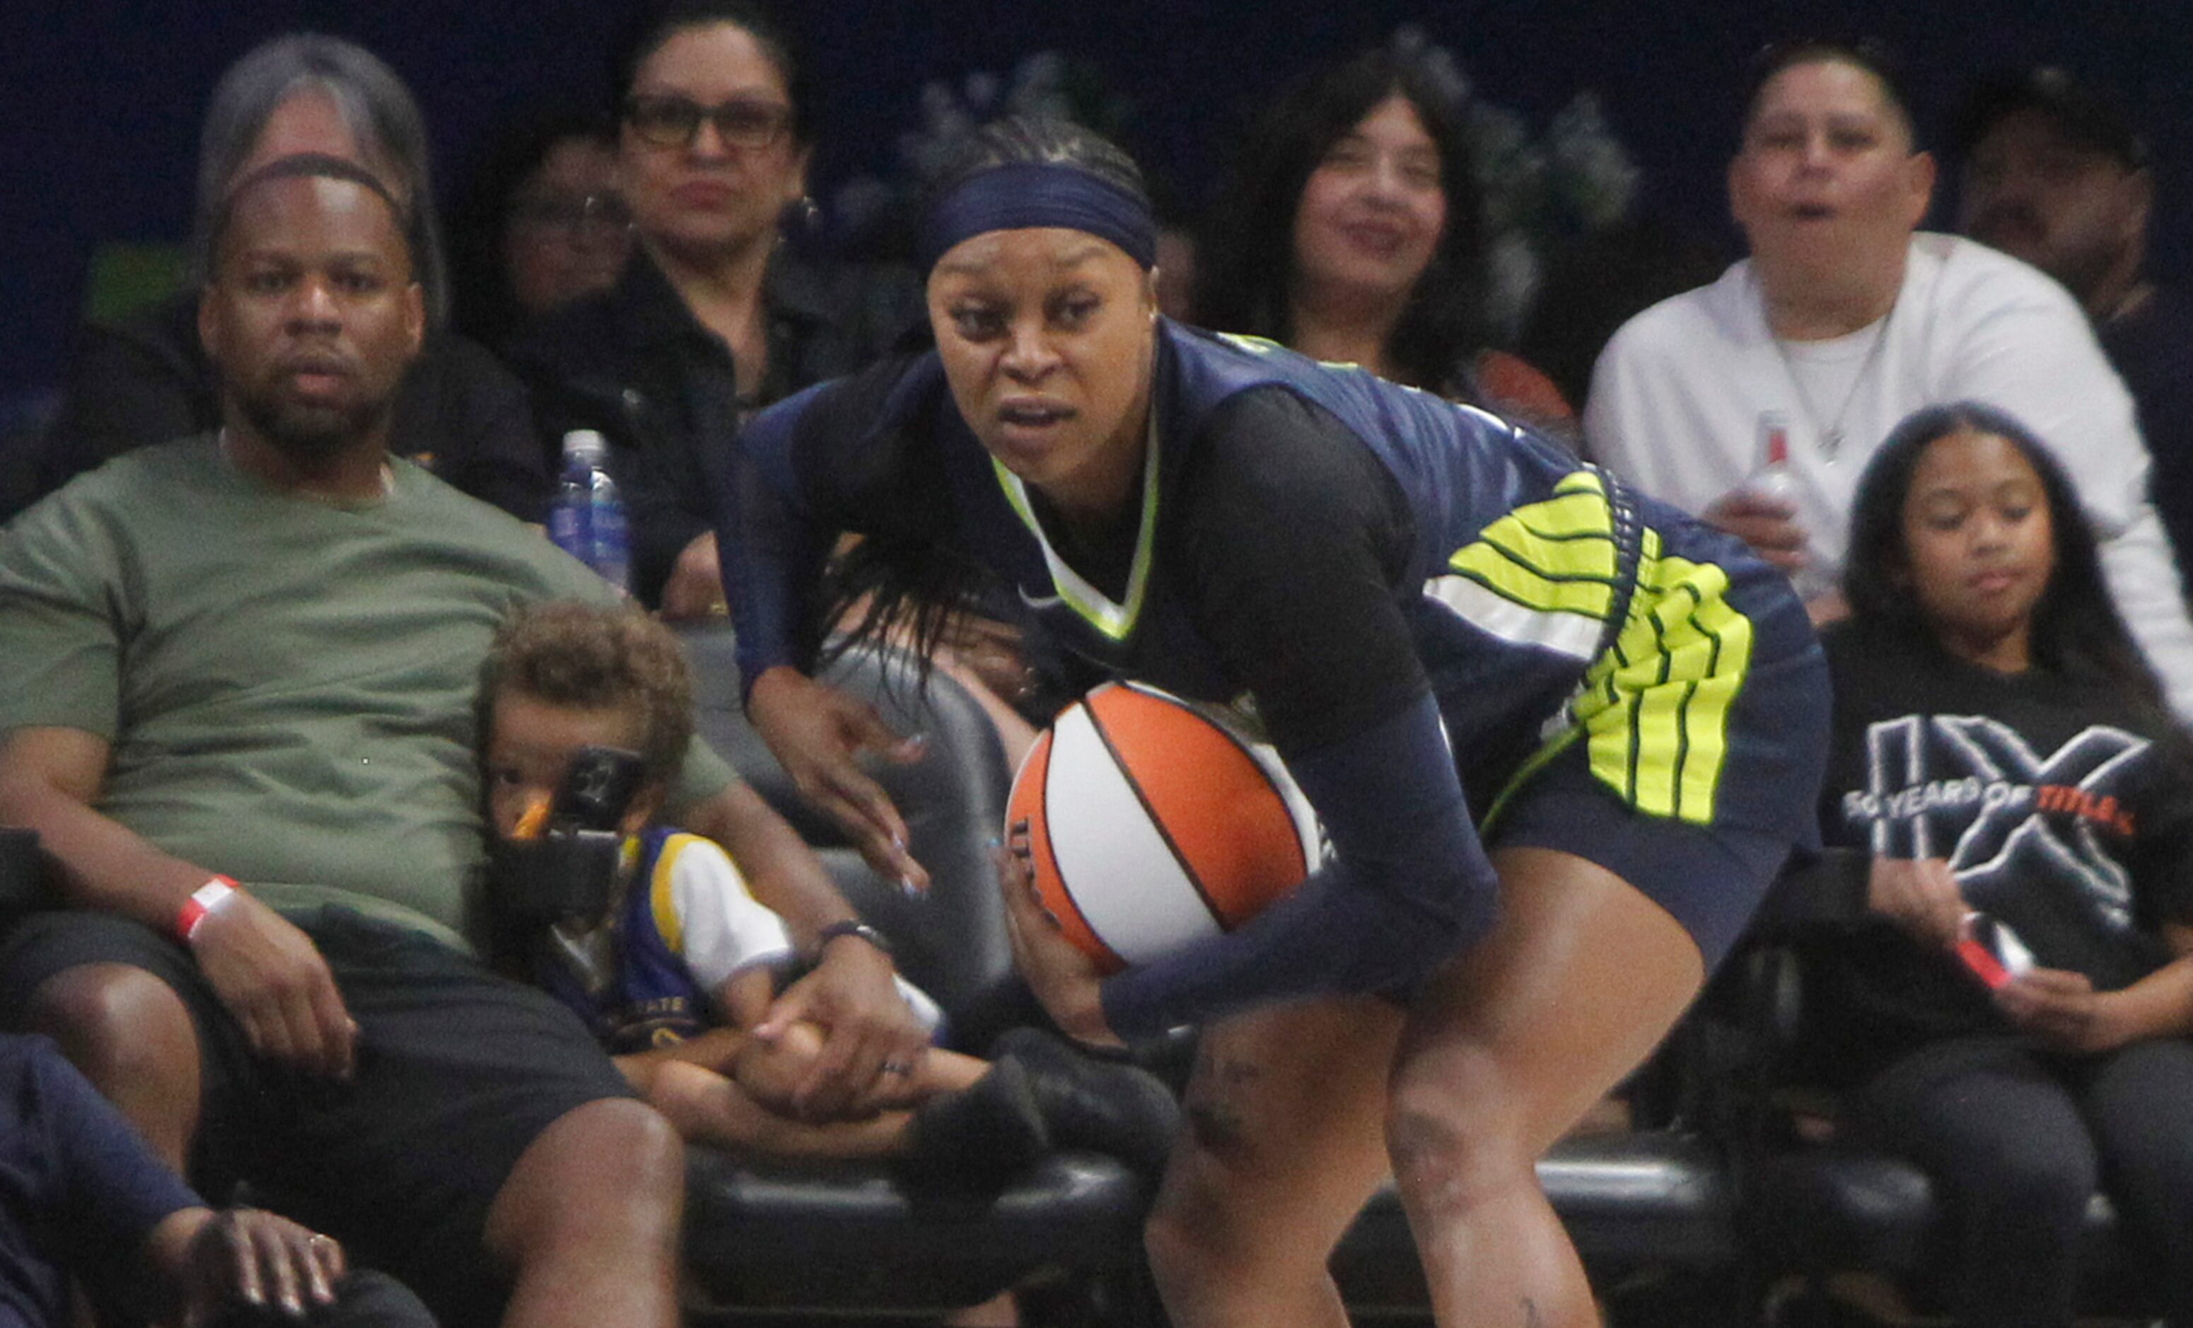
[[[1011,945],[989,863],[1011,771],[980,706],[950,677],[919,690],[904,655],[860,651],[831,682],[877,703],[899,732],[928,736],[910,767],[879,780],[908,817],[930,892],[877,879],[838,828],[807,809],[739,710],[726,627],[689,627],[700,732],[818,846],[846,898],[897,945],[901,971],[965,1017],[1011,975]],[[1147,1308],[1147,1188],[1110,1157],[1057,1155],[996,1201],[912,1194],[877,1164],[789,1166],[695,1148],[686,1190],[693,1300],[864,1315],[936,1315],[1031,1275],[1088,1280],[1112,1321]]]

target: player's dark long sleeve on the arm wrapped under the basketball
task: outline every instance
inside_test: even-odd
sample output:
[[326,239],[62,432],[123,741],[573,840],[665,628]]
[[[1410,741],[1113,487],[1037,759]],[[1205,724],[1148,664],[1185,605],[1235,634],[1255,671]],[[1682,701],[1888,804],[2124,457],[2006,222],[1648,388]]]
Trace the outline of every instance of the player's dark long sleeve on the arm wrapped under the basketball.
[[1239,931],[1107,980],[1123,1034],[1414,982],[1491,927],[1498,894],[1397,600],[1410,522],[1393,478],[1283,392],[1239,397],[1202,443],[1175,495],[1202,629],[1333,861]]

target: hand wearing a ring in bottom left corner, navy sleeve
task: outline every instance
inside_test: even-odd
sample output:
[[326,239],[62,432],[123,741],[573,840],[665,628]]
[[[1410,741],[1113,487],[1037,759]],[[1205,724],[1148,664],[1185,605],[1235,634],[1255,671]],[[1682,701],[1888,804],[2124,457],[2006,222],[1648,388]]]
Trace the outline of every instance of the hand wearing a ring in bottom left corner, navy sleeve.
[[186,1212],[202,1214],[175,1269],[186,1326],[208,1324],[237,1304],[303,1319],[336,1302],[344,1258],[331,1236],[259,1207]]

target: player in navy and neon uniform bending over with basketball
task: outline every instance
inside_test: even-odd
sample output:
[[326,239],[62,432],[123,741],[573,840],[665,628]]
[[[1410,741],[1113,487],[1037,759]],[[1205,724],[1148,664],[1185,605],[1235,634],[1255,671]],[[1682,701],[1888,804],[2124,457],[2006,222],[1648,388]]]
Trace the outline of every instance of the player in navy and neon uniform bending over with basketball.
[[[1827,684],[1779,574],[1498,419],[1156,311],[1134,164],[980,131],[932,204],[936,348],[748,430],[719,543],[748,710],[904,859],[901,749],[807,668],[836,600],[917,636],[1004,581],[1068,686],[1276,743],[1333,861],[1099,977],[1022,881],[1022,971],[1088,1041],[1202,1021],[1149,1225],[1173,1321],[1340,1324],[1325,1258],[1388,1166],[1441,1324],[1588,1324],[1533,1161],[1643,1061],[1809,833]],[[862,530],[829,596],[840,530]]]

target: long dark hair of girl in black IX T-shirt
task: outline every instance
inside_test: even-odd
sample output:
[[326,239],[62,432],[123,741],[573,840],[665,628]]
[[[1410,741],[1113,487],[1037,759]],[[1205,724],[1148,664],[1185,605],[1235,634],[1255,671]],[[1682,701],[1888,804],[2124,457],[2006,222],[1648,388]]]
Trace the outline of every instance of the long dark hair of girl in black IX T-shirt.
[[2061,677],[2123,688],[2143,708],[2167,714],[2162,686],[2110,598],[2094,528],[2079,511],[2079,495],[2064,467],[2031,430],[1978,401],[1928,405],[1906,416],[1866,465],[1866,473],[1857,480],[1851,552],[1842,570],[1842,594],[1851,600],[1851,614],[1879,629],[1934,640],[1910,589],[1904,502],[1925,449],[1961,430],[2007,438],[2042,480],[2048,526],[2055,533],[2055,570],[2033,605],[2035,664]]

